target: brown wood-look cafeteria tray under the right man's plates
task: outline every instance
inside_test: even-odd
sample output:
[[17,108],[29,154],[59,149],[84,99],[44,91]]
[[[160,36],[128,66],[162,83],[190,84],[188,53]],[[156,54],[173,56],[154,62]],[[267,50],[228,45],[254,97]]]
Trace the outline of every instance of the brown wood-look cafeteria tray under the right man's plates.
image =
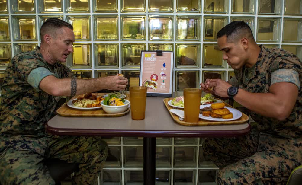
[[[173,113],[171,113],[169,111],[170,109],[175,109],[175,107],[171,107],[170,105],[168,105],[168,101],[173,100],[173,99],[174,99],[173,97],[172,98],[165,98],[164,99],[164,103],[165,103],[165,106],[168,109],[168,112],[172,116],[173,120],[175,120],[177,123],[179,123],[181,125],[185,125],[185,126],[227,125],[227,124],[245,123],[245,122],[247,122],[249,120],[249,116],[247,116],[246,114],[242,113],[242,116],[239,119],[232,120],[232,121],[209,121],[209,120],[203,120],[203,119],[200,119],[200,118],[199,118],[199,121],[196,122],[196,123],[190,123],[190,122],[181,121],[181,120],[179,120],[179,118],[178,118],[178,116],[176,114],[173,114]],[[226,104],[226,106],[227,107],[232,107],[229,104]],[[234,107],[232,107],[232,108],[234,108]]]

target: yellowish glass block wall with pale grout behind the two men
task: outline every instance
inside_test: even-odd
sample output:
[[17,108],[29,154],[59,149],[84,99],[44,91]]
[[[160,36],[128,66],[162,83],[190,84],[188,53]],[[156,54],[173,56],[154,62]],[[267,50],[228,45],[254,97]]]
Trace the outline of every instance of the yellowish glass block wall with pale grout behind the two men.
[[[78,78],[123,73],[138,85],[140,51],[174,51],[173,91],[199,88],[206,78],[229,80],[232,68],[217,47],[217,32],[243,20],[257,43],[302,59],[302,0],[2,0],[0,94],[10,59],[40,44],[39,28],[56,17],[74,26],[66,65]],[[107,139],[110,153],[101,184],[142,182],[142,138]],[[157,182],[214,183],[215,167],[202,158],[199,138],[157,140]]]

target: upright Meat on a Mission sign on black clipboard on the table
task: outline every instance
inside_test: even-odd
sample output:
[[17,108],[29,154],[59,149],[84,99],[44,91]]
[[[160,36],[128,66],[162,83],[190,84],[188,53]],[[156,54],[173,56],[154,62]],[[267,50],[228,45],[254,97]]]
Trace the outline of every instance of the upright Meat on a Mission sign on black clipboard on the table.
[[172,51],[142,51],[140,86],[148,88],[147,96],[171,97],[173,76]]

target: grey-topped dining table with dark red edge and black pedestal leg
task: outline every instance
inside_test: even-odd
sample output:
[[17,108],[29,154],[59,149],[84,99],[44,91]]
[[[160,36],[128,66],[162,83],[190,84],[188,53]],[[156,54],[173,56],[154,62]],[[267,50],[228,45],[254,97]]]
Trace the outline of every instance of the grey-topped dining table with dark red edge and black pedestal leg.
[[144,185],[155,184],[156,137],[237,137],[250,132],[248,122],[228,125],[184,126],[172,119],[164,97],[147,97],[145,119],[120,117],[67,117],[56,115],[45,127],[55,135],[143,137]]

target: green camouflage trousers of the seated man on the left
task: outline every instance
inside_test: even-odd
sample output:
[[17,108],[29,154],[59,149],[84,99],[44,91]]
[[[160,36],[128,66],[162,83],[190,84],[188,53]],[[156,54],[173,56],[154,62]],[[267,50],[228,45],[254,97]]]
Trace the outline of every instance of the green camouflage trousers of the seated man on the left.
[[108,154],[108,145],[100,137],[63,136],[16,141],[1,142],[2,147],[5,146],[0,154],[2,185],[55,184],[44,164],[48,158],[80,163],[72,184],[95,184]]

